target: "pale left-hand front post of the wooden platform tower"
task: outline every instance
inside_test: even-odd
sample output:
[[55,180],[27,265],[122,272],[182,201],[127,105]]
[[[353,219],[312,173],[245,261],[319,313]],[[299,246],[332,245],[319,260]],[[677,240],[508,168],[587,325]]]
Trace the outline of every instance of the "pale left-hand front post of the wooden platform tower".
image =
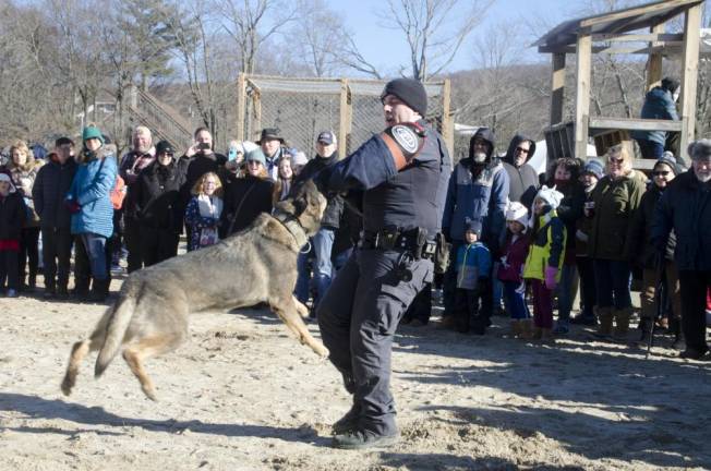
[[580,33],[576,44],[576,106],[575,106],[575,156],[588,157],[588,122],[590,119],[590,65],[592,61],[592,37]]

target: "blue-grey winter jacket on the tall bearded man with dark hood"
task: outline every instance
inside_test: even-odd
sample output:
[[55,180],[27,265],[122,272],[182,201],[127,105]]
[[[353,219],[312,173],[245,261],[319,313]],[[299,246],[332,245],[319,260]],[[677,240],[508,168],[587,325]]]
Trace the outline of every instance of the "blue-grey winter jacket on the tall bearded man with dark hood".
[[[451,240],[465,240],[465,222],[482,222],[482,241],[489,246],[499,246],[505,233],[508,173],[501,162],[494,161],[474,177],[471,158],[463,158],[449,177],[447,200],[442,219],[442,230]],[[448,233],[447,233],[448,231]]]

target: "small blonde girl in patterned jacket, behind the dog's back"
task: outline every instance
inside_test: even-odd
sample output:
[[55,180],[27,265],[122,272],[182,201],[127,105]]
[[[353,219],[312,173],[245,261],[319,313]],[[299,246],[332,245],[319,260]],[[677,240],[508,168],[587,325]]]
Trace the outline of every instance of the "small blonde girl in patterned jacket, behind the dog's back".
[[185,225],[191,227],[189,252],[219,240],[217,226],[222,214],[222,184],[216,173],[207,172],[197,180],[192,193],[185,208]]

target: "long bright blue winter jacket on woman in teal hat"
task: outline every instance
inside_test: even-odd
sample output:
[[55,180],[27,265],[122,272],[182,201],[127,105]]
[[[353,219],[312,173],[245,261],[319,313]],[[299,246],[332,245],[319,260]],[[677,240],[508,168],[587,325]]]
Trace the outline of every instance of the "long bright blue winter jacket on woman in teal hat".
[[80,205],[72,215],[73,234],[92,232],[106,238],[113,233],[113,206],[110,193],[116,185],[118,166],[116,147],[104,145],[96,155],[86,154],[84,162],[79,166],[72,186],[67,194],[68,201]]

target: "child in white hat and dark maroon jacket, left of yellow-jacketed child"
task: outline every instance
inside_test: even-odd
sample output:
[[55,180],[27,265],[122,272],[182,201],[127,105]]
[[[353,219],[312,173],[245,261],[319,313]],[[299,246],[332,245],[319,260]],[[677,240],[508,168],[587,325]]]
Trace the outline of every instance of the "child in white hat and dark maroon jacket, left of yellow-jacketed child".
[[528,255],[530,239],[526,237],[528,209],[519,202],[506,212],[506,243],[498,266],[498,279],[504,283],[504,299],[511,316],[511,336],[530,338],[531,314],[526,305],[523,263]]

